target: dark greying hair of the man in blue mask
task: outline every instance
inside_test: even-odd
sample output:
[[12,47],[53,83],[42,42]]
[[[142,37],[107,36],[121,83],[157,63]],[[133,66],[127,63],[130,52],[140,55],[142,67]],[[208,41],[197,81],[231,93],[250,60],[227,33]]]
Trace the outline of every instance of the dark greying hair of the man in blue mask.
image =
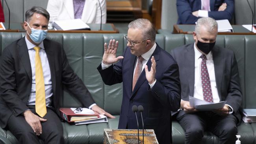
[[33,6],[31,9],[28,9],[26,11],[25,17],[26,17],[26,22],[29,22],[31,17],[33,16],[34,13],[38,13],[46,17],[46,19],[49,21],[50,19],[50,14],[48,11],[46,11],[43,7],[36,7]]

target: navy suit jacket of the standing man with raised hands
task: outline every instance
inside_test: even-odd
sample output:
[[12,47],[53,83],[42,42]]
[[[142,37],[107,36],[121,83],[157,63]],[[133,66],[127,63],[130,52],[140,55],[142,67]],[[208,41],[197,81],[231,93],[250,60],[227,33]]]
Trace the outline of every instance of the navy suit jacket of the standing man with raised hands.
[[[154,129],[160,143],[170,144],[170,112],[180,108],[181,88],[178,65],[173,57],[158,45],[152,55],[156,60],[156,83],[152,89],[148,85],[145,70],[143,70],[132,91],[136,56],[131,54],[129,47],[124,51],[124,59],[104,70],[100,65],[98,70],[106,85],[123,82],[123,98],[118,128],[137,129],[132,106],[142,105],[144,107],[143,120],[145,129]],[[147,62],[149,70],[152,64],[150,59]],[[139,128],[142,129],[141,116],[140,114],[137,115]]]

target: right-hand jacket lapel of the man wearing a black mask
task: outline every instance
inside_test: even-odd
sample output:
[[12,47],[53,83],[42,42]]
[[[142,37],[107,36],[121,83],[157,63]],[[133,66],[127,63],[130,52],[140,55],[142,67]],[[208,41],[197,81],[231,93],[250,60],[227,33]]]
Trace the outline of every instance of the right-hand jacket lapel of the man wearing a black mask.
[[211,52],[213,56],[216,86],[217,86],[219,98],[221,101],[221,81],[223,76],[224,59],[223,59],[223,55],[219,53],[219,47],[214,47],[213,50],[211,50]]

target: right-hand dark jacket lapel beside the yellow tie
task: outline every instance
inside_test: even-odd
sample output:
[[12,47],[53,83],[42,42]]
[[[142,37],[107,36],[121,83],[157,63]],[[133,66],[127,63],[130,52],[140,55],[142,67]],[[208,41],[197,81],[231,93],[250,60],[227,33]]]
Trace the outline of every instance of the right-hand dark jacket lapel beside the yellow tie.
[[55,77],[55,64],[54,64],[54,52],[53,49],[50,48],[50,44],[47,40],[44,41],[44,47],[45,47],[45,52],[47,55],[48,63],[50,66],[50,73],[51,73],[51,79],[52,79],[52,90],[55,95],[55,90],[56,90],[56,77]]

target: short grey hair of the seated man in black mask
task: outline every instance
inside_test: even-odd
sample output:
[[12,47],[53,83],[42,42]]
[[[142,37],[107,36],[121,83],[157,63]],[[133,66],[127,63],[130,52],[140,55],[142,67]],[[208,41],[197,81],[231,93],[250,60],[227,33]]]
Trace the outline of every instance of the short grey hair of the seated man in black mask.
[[200,33],[200,27],[205,26],[208,32],[213,30],[218,30],[218,23],[210,17],[203,17],[197,20],[197,24],[195,26],[195,32]]

